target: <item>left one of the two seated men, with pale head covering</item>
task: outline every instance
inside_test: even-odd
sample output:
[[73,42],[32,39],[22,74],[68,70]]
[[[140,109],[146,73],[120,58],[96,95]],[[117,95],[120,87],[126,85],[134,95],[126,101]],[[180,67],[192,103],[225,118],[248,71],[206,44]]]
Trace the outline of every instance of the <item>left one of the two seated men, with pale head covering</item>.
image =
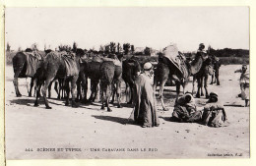
[[175,102],[172,118],[178,122],[199,122],[202,118],[201,111],[197,111],[194,98],[186,92]]

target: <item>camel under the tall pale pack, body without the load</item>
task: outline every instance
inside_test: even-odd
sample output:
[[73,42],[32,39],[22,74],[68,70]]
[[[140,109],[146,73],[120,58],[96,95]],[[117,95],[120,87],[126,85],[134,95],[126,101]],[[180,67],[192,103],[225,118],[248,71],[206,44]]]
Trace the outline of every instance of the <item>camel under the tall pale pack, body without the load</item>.
[[186,61],[181,62],[180,70],[171,63],[166,57],[160,55],[159,56],[159,63],[157,65],[156,74],[154,78],[154,88],[156,89],[156,85],[160,83],[160,102],[162,109],[167,111],[163,103],[163,86],[167,82],[168,78],[175,81],[176,84],[176,100],[180,93],[180,85],[183,86],[183,93],[185,92],[186,85],[189,81],[189,77],[191,75],[195,75],[198,73],[203,65],[204,57],[202,54],[197,54],[195,60],[191,63]]

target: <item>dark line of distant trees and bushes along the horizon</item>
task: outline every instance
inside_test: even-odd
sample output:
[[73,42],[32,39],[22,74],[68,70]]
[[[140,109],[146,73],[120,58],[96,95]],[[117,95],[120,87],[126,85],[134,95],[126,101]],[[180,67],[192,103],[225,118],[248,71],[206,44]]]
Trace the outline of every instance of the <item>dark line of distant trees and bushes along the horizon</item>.
[[[62,48],[69,47],[72,49],[71,46],[69,45],[59,45],[59,50]],[[74,42],[73,44],[73,49],[74,47],[77,47],[77,43]],[[9,43],[7,43],[7,48],[6,48],[6,64],[11,65],[12,64],[12,59],[15,56],[15,54],[21,50],[14,51],[10,49],[11,46]],[[37,44],[33,43],[32,44],[32,49],[37,50]],[[46,49],[46,48],[44,48]],[[94,50],[94,49],[92,49]],[[157,50],[155,50],[155,56],[152,54],[152,48],[146,47],[144,50],[142,49],[141,52],[136,52],[134,45],[130,43],[124,43],[123,47],[121,46],[120,43],[115,44],[114,42],[110,42],[109,44],[106,45],[100,45],[99,51],[105,52],[105,53],[118,53],[123,51],[125,59],[130,58],[131,56],[135,55],[135,57],[138,58],[138,60],[141,63],[145,63],[148,61],[158,63],[158,55],[157,55]],[[39,51],[43,52],[43,51]],[[224,48],[224,49],[213,49],[211,46],[208,48],[208,52],[210,55],[215,55],[220,58],[220,61],[222,64],[249,64],[249,50],[245,49],[230,49],[230,48]],[[196,52],[183,52],[186,57],[189,57],[193,59],[195,56]]]

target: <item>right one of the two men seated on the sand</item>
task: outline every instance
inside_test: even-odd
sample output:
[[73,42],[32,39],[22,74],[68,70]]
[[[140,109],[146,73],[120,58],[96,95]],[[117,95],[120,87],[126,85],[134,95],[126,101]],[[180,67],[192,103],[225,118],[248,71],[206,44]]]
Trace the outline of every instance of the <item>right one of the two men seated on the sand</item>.
[[210,98],[204,107],[202,122],[204,125],[210,127],[224,127],[227,126],[226,115],[224,112],[224,105],[218,101],[218,94],[210,93]]

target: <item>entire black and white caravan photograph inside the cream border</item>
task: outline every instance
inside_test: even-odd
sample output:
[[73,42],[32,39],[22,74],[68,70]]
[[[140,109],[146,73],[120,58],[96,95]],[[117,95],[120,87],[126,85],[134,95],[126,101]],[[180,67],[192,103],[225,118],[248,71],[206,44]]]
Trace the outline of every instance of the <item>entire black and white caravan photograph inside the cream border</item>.
[[5,8],[5,155],[250,158],[250,8]]

